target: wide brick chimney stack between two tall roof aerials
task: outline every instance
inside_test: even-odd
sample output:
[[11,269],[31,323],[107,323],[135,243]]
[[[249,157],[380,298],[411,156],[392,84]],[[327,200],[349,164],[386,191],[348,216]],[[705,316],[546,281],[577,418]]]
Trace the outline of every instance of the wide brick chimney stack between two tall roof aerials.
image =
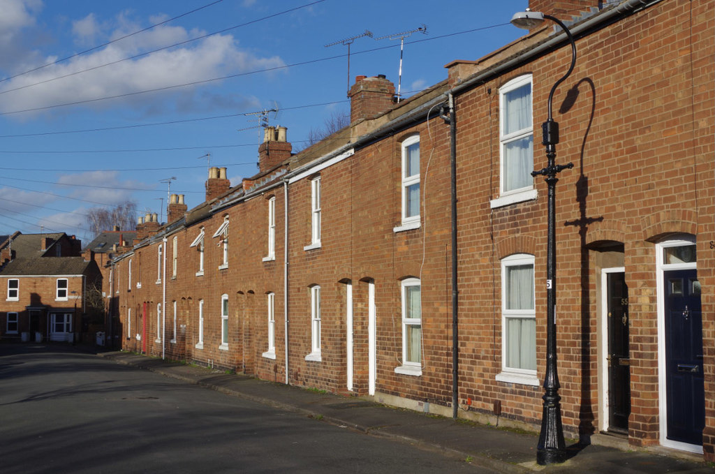
[[357,76],[347,96],[350,97],[350,123],[354,124],[388,112],[393,107],[395,84],[385,79],[384,74]]

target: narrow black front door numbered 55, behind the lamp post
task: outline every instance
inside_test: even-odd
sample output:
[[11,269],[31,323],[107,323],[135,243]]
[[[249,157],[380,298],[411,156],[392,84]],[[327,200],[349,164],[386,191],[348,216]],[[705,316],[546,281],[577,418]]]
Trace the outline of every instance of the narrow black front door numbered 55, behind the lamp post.
[[623,272],[608,273],[608,430],[628,433],[631,360],[628,355],[628,286]]

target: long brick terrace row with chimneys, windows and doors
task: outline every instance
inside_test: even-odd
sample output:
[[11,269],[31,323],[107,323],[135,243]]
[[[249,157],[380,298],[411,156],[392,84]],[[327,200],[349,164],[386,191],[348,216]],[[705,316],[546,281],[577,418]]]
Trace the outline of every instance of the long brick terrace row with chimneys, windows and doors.
[[[715,4],[532,0],[578,59],[561,124],[557,355],[566,434],[715,460]],[[546,164],[571,61],[553,23],[350,126],[140,219],[112,260],[122,347],[482,422],[538,427]],[[170,206],[172,205],[170,204]],[[182,202],[183,204],[183,202]],[[602,436],[602,435],[599,435]],[[597,436],[593,436],[595,440]]]

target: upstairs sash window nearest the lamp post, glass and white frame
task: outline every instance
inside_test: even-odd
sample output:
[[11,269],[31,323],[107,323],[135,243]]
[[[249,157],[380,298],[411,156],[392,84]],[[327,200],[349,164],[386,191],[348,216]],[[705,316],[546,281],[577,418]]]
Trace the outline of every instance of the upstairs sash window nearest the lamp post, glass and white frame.
[[515,194],[511,202],[533,199],[528,195],[518,196],[533,189],[531,75],[518,77],[501,87],[499,104],[500,196]]

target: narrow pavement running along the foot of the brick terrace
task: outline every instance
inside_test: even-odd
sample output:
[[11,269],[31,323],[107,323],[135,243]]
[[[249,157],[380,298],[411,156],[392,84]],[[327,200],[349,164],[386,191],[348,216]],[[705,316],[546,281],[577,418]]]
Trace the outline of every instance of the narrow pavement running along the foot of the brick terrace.
[[[368,435],[436,450],[499,473],[715,473],[700,455],[666,448],[634,448],[595,435],[591,445],[568,446],[562,464],[536,464],[538,433],[518,433],[465,420],[392,408],[370,398],[345,397],[131,352],[98,352],[114,362],[151,370],[227,395],[300,413]],[[568,445],[568,442],[567,442]]]

